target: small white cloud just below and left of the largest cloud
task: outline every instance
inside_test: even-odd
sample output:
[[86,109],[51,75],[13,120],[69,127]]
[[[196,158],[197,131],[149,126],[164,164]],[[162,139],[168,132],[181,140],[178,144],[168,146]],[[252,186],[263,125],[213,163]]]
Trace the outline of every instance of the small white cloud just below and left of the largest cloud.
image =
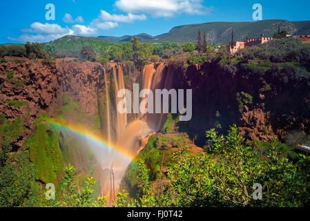
[[100,10],[99,19],[102,21],[117,21],[124,23],[133,23],[135,20],[145,21],[145,15],[133,15],[132,13],[128,13],[128,15],[110,15],[105,10]]

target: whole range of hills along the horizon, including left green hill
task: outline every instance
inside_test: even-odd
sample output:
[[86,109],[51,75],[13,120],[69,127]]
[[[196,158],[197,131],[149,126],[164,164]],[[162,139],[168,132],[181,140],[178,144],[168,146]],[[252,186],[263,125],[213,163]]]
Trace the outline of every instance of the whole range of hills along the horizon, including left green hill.
[[[178,26],[171,29],[170,32],[151,36],[145,33],[136,35],[139,41],[162,43],[164,41],[184,43],[191,41],[195,43],[197,32],[206,32],[208,44],[227,44],[231,41],[231,29],[235,33],[235,40],[244,40],[246,37],[254,38],[264,35],[271,37],[277,30],[288,30],[291,35],[310,35],[310,21],[284,21],[284,20],[264,20],[257,22],[211,22],[200,23],[186,26]],[[55,41],[41,44],[43,50],[55,57],[79,57],[83,46],[94,48],[97,55],[105,52],[115,51],[113,44],[128,43],[133,36],[125,35],[123,37],[99,36],[95,37],[77,37],[67,35]],[[114,58],[115,59],[115,58]],[[116,59],[117,60],[117,59]]]

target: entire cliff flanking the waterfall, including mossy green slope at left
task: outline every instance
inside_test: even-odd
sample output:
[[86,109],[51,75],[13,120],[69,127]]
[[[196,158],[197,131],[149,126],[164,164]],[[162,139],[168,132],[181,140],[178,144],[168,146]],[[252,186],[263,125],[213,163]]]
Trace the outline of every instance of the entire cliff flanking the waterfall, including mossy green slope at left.
[[[1,146],[9,140],[10,151],[29,150],[36,180],[43,183],[59,182],[69,162],[81,177],[92,170],[100,171],[87,145],[70,133],[50,128],[46,117],[82,124],[107,138],[106,105],[110,104],[111,136],[115,140],[114,65],[106,68],[105,82],[104,67],[89,61],[2,62]],[[284,139],[290,131],[309,133],[309,79],[294,70],[285,74],[284,70],[289,69],[281,66],[217,60],[200,65],[175,61],[162,67],[164,79],[173,79],[172,88],[193,90],[191,121],[177,122],[176,115],[168,115],[163,132],[187,133],[189,142],[193,140],[201,147],[206,144],[206,130],[216,128],[226,133],[232,124],[237,124],[249,141]],[[133,90],[133,83],[142,84],[141,67],[126,63],[119,68],[124,72],[125,88]],[[137,115],[127,117],[129,123]]]

